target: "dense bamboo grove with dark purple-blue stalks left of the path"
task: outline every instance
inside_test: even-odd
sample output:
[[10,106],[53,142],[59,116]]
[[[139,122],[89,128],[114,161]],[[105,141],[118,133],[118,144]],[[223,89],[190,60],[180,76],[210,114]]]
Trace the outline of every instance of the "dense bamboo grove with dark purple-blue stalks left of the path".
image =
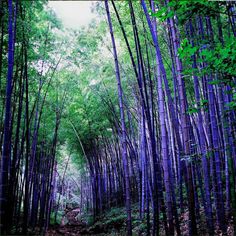
[[[50,218],[51,192],[55,181],[53,170],[63,100],[55,103],[51,116],[55,125],[48,131],[51,137],[47,138],[46,127],[41,127],[45,119],[43,110],[58,63],[52,64],[49,61],[48,54],[52,52],[50,40],[53,40],[49,27],[36,24],[37,15],[43,9],[42,4],[29,1],[0,3],[3,234],[9,234],[12,229],[26,234],[29,226],[34,229],[36,225],[40,225],[43,231]],[[39,17],[46,19],[50,16],[44,14]],[[42,44],[39,44],[40,40]],[[37,53],[33,51],[36,49]],[[44,64],[51,67],[45,71]]]

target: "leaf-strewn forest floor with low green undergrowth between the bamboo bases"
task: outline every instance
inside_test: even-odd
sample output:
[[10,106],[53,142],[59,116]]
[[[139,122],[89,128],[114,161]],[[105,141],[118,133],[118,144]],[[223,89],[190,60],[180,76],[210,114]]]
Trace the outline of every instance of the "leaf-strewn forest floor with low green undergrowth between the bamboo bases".
[[[146,232],[146,222],[138,220],[138,212],[134,213],[133,235],[142,236]],[[93,224],[86,224],[83,219],[77,217],[76,212],[70,211],[66,214],[67,223],[65,225],[52,225],[46,233],[46,236],[79,236],[79,235],[99,235],[99,236],[123,236],[125,231],[125,210],[124,208],[112,208],[109,212],[104,213]],[[181,216],[181,233],[183,236],[188,235],[188,213]],[[199,236],[207,236],[207,225],[200,224],[198,229]],[[165,235],[164,229],[160,230],[160,235]],[[219,230],[215,235],[220,236]],[[233,236],[233,225],[229,223],[227,236]]]

